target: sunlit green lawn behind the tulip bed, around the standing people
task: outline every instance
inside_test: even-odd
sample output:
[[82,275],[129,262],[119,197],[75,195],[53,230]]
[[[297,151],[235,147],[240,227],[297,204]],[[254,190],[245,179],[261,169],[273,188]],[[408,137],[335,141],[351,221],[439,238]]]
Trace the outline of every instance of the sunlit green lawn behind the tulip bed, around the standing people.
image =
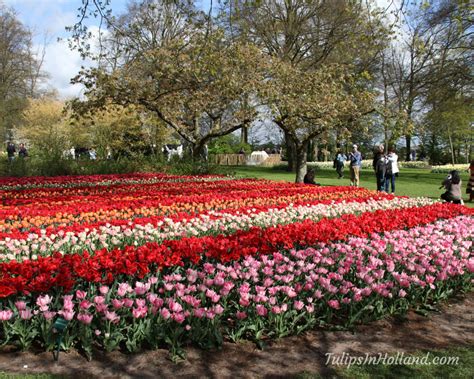
[[[295,174],[286,172],[280,167],[256,167],[256,166],[238,166],[233,168],[236,175],[241,177],[262,178],[269,180],[284,180],[293,182]],[[323,186],[341,186],[349,185],[349,169],[344,171],[344,178],[338,179],[335,170],[316,169],[316,182]],[[441,182],[446,174],[433,174],[429,170],[423,169],[402,169],[396,181],[396,195],[399,196],[425,196],[432,199],[439,199],[443,190],[439,189]],[[462,172],[463,192],[466,190],[468,173]],[[360,185],[368,189],[376,189],[375,175],[372,170],[362,170],[360,173]],[[468,196],[463,193],[464,201]],[[474,203],[466,202],[467,206],[474,207]]]

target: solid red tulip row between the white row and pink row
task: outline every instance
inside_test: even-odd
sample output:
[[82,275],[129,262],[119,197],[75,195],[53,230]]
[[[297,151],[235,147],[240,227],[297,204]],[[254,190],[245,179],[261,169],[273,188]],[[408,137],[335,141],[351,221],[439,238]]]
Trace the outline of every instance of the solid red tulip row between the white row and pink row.
[[202,263],[202,260],[230,262],[256,254],[271,254],[280,249],[314,246],[318,242],[342,241],[350,236],[412,228],[473,210],[452,204],[433,204],[420,208],[389,209],[339,218],[305,220],[268,228],[251,227],[225,236],[184,237],[178,240],[149,242],[124,249],[101,249],[93,254],[54,253],[36,260],[0,263],[0,297],[28,292],[71,290],[77,283],[112,283],[118,277],[144,277],[163,267]]

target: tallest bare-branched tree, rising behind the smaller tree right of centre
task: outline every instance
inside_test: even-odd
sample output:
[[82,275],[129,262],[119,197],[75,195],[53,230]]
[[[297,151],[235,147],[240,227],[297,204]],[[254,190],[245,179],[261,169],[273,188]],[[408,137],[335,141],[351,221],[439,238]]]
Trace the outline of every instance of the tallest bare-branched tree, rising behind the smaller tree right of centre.
[[[334,63],[371,72],[389,30],[382,10],[366,1],[229,0],[221,8],[231,38],[250,40],[301,72]],[[296,150],[286,131],[285,139],[292,170]]]

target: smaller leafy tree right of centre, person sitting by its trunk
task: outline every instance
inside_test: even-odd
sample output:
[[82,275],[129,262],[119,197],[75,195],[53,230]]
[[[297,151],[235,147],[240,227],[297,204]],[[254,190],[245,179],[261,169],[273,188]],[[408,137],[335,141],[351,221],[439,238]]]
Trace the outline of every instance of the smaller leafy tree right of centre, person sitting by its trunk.
[[306,71],[274,60],[261,96],[272,120],[295,146],[297,183],[306,173],[311,140],[329,131],[347,134],[355,120],[373,110],[373,96],[364,88],[363,78],[338,65]]

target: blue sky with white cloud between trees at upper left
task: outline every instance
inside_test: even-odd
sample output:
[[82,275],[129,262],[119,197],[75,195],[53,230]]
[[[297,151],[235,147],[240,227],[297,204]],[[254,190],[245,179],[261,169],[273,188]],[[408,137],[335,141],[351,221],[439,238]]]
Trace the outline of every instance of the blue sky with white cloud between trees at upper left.
[[[127,2],[111,0],[114,14],[123,13]],[[391,2],[377,0],[383,7]],[[40,53],[45,47],[43,70],[49,75],[48,87],[55,88],[61,99],[80,96],[81,86],[73,86],[70,80],[81,66],[88,66],[90,62],[83,61],[77,51],[69,49],[65,40],[69,34],[65,27],[76,22],[82,0],[0,0],[1,3],[13,8],[18,19],[33,32],[35,51]],[[198,0],[196,5],[202,9],[209,8],[209,0]],[[97,28],[99,20],[89,19],[88,24],[92,29],[94,26]]]

